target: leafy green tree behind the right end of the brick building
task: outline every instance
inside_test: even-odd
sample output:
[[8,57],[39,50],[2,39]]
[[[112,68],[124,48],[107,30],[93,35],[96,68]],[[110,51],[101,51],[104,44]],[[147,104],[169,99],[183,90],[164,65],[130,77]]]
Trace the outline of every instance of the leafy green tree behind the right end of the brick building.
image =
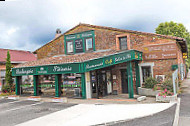
[[[157,34],[177,36],[186,39],[187,48],[190,50],[190,33],[182,23],[175,23],[173,21],[160,23],[155,29]],[[190,53],[188,53],[190,57]],[[190,64],[190,58],[187,59]]]

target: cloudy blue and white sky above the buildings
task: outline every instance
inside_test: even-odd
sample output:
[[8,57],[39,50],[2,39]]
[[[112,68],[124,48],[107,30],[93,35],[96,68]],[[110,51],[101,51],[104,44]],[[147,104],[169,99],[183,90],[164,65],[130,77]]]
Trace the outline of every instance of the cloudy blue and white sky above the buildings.
[[190,31],[189,0],[0,1],[0,48],[35,51],[79,23],[155,32],[161,22]]

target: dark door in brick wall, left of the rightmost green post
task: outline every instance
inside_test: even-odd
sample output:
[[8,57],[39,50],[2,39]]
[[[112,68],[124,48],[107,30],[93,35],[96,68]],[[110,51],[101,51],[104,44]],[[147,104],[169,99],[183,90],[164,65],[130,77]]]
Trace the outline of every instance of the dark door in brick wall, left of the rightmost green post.
[[121,70],[121,83],[122,83],[122,93],[128,93],[128,75],[127,70]]

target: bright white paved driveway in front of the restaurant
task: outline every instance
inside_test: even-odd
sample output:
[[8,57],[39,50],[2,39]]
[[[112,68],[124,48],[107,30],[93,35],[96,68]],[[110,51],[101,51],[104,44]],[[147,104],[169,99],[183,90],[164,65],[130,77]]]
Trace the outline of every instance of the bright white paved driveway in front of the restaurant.
[[[175,103],[155,104],[79,104],[17,126],[89,126],[130,120],[158,113]],[[48,120],[48,121],[47,121]]]

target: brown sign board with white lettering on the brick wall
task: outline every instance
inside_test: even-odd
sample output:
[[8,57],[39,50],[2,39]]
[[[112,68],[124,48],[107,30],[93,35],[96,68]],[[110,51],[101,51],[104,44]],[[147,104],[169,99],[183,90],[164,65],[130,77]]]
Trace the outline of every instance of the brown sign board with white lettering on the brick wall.
[[145,60],[173,59],[177,58],[177,47],[175,43],[149,45],[143,47],[143,58]]

